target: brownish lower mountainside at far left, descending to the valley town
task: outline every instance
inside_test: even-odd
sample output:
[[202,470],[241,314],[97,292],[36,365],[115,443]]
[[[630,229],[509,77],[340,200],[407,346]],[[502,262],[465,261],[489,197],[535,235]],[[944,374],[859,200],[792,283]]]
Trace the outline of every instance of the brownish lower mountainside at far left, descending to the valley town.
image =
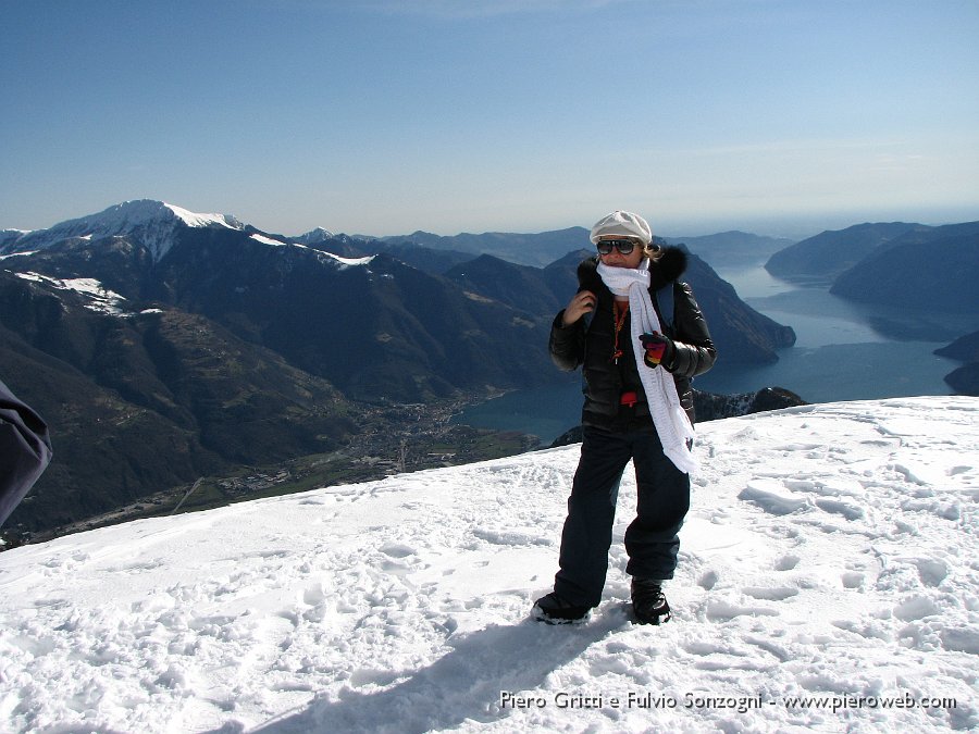
[[76,522],[355,433],[357,411],[332,385],[202,316],[94,303],[0,271],[0,370],[49,423],[55,453],[10,527]]

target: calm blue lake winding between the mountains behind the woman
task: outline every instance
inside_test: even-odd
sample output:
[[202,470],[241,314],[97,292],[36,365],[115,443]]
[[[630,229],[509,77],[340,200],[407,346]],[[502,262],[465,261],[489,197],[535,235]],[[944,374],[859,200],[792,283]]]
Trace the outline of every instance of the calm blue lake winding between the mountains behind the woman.
[[[694,381],[708,393],[778,386],[807,402],[951,395],[944,376],[961,363],[932,352],[979,331],[979,314],[922,314],[854,303],[830,294],[827,285],[779,281],[760,264],[718,273],[756,311],[792,326],[796,344],[780,349],[774,364],[756,368],[726,369],[720,354],[717,366]],[[534,434],[546,446],[578,425],[581,403],[581,373],[568,377],[555,369],[553,385],[471,406],[454,422]]]

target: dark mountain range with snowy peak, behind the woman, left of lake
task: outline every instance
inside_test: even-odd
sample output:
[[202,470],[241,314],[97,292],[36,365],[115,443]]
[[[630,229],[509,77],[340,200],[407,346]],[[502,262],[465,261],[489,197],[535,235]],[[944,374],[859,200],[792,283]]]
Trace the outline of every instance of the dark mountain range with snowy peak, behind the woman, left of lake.
[[[434,414],[553,382],[547,334],[577,286],[574,250],[534,268],[323,229],[287,237],[149,200],[4,231],[0,375],[55,445],[10,523],[63,525],[365,434],[396,446],[397,406]],[[794,339],[696,257],[689,276],[729,364],[770,362]]]

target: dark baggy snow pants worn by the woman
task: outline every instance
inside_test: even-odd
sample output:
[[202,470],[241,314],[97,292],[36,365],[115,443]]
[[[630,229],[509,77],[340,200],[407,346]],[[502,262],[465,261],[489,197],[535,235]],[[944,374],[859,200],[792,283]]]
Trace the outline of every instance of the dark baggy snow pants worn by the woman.
[[554,590],[571,604],[596,607],[602,599],[619,481],[630,459],[635,465],[636,517],[625,531],[625,572],[643,579],[673,577],[680,550],[677,533],[690,509],[690,475],[662,452],[652,424],[632,433],[585,426],[554,584]]

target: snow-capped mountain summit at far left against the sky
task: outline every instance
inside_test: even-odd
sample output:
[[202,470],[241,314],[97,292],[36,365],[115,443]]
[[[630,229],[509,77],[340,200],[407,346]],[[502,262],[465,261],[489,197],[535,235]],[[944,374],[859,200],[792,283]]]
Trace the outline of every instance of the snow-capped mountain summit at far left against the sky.
[[0,240],[0,252],[42,250],[55,242],[73,237],[115,237],[136,235],[160,260],[173,245],[178,227],[244,228],[228,214],[196,214],[194,212],[151,199],[126,201],[110,207],[98,214],[55,224],[49,229],[35,229],[17,238]]

